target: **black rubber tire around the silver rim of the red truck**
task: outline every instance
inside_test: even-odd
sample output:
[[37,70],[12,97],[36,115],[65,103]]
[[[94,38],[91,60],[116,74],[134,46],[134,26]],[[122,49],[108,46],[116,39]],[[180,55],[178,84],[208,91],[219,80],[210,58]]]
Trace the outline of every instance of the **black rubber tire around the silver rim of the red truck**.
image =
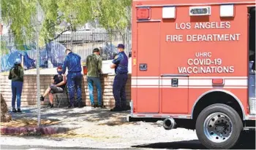
[[[232,133],[230,133],[230,137],[226,141],[222,141],[221,143],[217,143],[211,141],[207,138],[206,133],[204,132],[204,122],[206,118],[214,113],[222,113],[227,115],[230,118],[230,122],[232,122]],[[213,104],[208,106],[201,111],[199,116],[197,117],[196,125],[195,125],[197,138],[206,146],[207,149],[230,149],[236,145],[238,142],[238,138],[241,134],[241,130],[243,130],[243,123],[241,121],[241,117],[238,113],[230,106],[227,106],[222,103]]]

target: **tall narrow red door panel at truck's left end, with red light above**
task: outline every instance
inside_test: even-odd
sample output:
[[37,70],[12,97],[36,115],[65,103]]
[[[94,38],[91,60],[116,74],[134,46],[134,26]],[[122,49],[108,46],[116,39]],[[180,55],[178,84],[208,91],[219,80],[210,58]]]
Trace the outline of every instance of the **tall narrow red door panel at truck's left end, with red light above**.
[[[148,7],[135,8],[137,32],[136,112],[159,113],[159,38],[161,20]],[[152,16],[153,15],[153,16]],[[135,52],[135,51],[133,51]],[[134,74],[134,73],[132,73]]]

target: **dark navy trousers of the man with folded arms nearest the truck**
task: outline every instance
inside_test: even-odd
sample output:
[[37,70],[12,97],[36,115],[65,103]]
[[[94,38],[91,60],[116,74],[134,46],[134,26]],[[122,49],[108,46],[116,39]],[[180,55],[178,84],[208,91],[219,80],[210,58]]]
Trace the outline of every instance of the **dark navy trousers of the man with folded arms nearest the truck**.
[[127,84],[127,74],[116,74],[113,82],[113,95],[116,101],[116,107],[127,106],[127,95],[125,87]]

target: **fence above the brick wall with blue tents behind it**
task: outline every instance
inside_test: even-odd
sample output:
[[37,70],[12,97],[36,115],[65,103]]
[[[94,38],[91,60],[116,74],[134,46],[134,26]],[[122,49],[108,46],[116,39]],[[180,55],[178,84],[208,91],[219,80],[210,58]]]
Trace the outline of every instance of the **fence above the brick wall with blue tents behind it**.
[[[11,59],[19,54],[26,56],[26,60],[36,63],[37,57],[35,47],[26,43],[24,45],[25,51],[17,50],[14,43],[13,36],[2,36],[1,42],[5,42],[7,45],[7,54],[0,56],[1,69],[0,71],[8,71],[13,65]],[[86,61],[86,57],[92,54],[94,48],[99,48],[102,60],[112,60],[113,55],[117,53],[117,44],[125,45],[125,52],[127,55],[131,55],[132,51],[132,36],[131,31],[127,30],[123,33],[118,31],[106,31],[105,29],[93,29],[90,31],[80,30],[76,32],[67,31],[62,33],[58,39],[55,39],[50,44],[46,44],[42,50],[40,50],[40,67],[52,68],[59,66],[64,60],[65,48],[72,49],[73,52],[80,55],[83,62]],[[15,54],[13,52],[16,52]],[[17,53],[18,52],[18,53]],[[34,65],[27,66],[24,60],[24,67],[26,69],[34,68]],[[50,64],[50,65],[49,65]]]

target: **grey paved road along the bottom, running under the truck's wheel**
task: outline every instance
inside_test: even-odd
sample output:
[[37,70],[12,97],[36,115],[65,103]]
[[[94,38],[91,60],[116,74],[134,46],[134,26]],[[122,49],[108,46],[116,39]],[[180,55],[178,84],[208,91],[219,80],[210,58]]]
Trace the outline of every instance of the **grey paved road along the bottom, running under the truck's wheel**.
[[[120,141],[120,143],[113,146],[113,143],[92,141],[88,138],[17,138],[1,136],[0,139],[1,143],[4,143],[1,144],[1,149],[205,149],[197,140],[137,145]],[[17,142],[13,143],[13,141]],[[255,134],[249,134],[249,138],[247,137],[246,140],[241,141],[234,149],[255,149]]]

